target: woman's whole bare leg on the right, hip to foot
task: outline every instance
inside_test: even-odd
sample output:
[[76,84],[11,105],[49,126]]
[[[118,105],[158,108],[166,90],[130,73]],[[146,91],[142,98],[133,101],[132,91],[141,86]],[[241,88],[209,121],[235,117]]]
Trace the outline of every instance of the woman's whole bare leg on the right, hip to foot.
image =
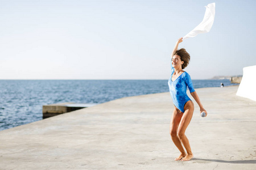
[[193,116],[193,111],[194,111],[194,105],[193,102],[191,100],[189,100],[184,107],[184,114],[181,117],[180,120],[180,124],[177,130],[177,134],[180,138],[180,141],[183,143],[183,146],[185,147],[185,149],[187,150],[187,155],[181,159],[182,161],[187,161],[187,160],[191,160],[193,158],[193,153],[191,151],[191,147],[189,145],[189,141],[188,138],[185,135],[185,130],[187,129],[191,118]]

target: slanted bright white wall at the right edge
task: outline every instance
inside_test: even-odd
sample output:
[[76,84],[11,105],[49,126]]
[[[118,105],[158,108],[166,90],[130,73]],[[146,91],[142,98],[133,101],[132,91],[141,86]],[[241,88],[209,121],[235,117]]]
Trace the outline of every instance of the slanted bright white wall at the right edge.
[[243,78],[238,87],[237,96],[256,101],[256,65],[243,67]]

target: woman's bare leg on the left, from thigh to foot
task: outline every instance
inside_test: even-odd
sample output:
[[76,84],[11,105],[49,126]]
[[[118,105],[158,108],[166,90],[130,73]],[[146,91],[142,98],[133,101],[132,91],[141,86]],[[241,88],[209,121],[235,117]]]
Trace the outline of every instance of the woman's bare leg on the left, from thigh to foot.
[[174,142],[175,146],[179,149],[180,151],[180,156],[175,158],[174,160],[181,160],[186,156],[185,150],[181,144],[180,138],[177,136],[177,128],[180,124],[180,120],[182,117],[183,113],[179,111],[176,107],[174,108],[174,113],[172,113],[172,118],[170,122],[170,134],[172,137],[172,141]]

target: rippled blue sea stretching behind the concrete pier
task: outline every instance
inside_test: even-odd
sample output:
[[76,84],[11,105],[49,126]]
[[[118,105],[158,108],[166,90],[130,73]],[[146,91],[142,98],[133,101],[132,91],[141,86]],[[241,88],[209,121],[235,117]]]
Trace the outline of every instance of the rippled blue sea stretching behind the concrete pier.
[[[233,86],[228,79],[192,80],[194,88]],[[168,92],[167,80],[0,80],[0,131],[43,119],[43,105],[100,104]],[[171,97],[171,96],[170,96]]]

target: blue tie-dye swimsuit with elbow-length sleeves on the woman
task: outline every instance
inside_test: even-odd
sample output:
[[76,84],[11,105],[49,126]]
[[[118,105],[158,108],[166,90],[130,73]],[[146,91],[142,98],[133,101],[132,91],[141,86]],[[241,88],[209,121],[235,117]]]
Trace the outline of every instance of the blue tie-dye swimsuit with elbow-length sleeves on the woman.
[[172,74],[174,74],[174,67],[172,67],[171,78],[168,80],[172,101],[176,108],[184,113],[185,104],[191,100],[187,95],[187,86],[192,93],[195,91],[193,88],[192,80],[187,72],[183,72],[176,80],[172,81]]

